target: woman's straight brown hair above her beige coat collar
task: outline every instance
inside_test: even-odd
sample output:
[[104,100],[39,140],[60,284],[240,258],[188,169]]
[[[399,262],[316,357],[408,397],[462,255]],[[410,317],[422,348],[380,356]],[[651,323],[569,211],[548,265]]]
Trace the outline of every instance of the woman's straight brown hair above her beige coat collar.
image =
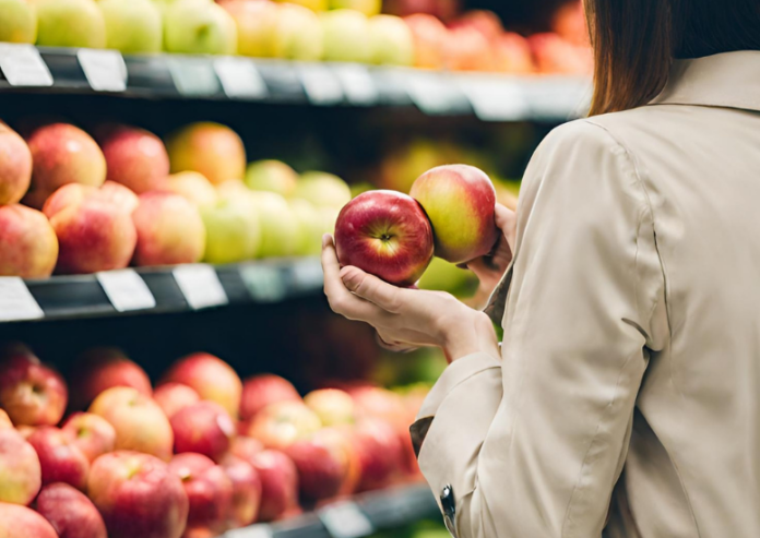
[[594,47],[591,115],[645,105],[670,63],[760,50],[760,0],[584,0]]

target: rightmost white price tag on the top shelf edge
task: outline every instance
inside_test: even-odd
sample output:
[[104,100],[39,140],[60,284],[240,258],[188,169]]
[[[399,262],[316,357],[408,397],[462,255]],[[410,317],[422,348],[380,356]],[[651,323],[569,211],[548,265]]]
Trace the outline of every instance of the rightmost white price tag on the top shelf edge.
[[483,121],[514,121],[529,116],[525,93],[514,81],[501,76],[463,75],[461,87],[475,115]]

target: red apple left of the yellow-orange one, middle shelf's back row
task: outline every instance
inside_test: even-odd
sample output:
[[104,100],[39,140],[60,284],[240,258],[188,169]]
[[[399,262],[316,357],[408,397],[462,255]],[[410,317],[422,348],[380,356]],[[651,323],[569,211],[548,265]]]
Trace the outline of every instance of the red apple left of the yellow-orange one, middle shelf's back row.
[[138,194],[161,189],[169,175],[169,156],[155,134],[129,125],[104,125],[97,140],[106,157],[108,180]]

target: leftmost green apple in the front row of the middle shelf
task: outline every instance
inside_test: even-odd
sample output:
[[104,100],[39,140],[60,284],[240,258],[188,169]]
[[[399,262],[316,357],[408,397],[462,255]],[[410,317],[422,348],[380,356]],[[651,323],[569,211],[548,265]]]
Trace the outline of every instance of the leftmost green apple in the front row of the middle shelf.
[[201,210],[206,228],[203,261],[235,263],[251,260],[261,244],[259,217],[245,199],[221,200]]

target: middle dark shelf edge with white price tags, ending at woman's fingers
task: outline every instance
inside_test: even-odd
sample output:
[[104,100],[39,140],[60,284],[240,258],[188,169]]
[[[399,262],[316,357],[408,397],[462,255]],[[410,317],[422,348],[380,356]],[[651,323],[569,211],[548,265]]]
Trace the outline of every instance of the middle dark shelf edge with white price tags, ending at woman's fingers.
[[318,259],[0,278],[0,321],[61,320],[280,302],[322,288]]

